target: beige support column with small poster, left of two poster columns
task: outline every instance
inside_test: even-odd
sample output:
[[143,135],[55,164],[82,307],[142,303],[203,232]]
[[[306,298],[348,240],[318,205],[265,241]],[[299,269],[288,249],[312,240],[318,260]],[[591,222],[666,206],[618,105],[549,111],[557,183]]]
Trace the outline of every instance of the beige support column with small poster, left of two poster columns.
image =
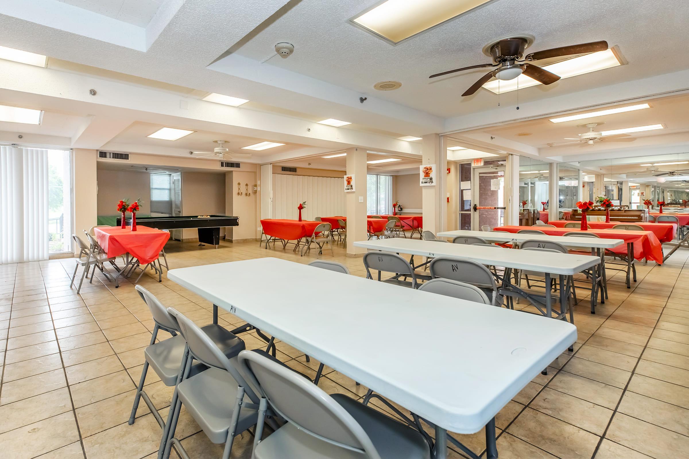
[[366,149],[347,149],[347,175],[354,176],[354,191],[345,193],[345,202],[347,204],[347,257],[362,257],[366,249],[355,247],[354,243],[367,239]]

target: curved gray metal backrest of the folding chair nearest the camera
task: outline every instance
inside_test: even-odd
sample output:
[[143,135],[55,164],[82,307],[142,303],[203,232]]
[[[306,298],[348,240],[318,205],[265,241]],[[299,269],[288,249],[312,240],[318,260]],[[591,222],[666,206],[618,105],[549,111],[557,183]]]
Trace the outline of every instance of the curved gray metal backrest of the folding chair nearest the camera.
[[258,352],[240,352],[239,362],[249,381],[282,418],[320,440],[362,454],[362,459],[380,459],[371,438],[353,416],[307,378]]

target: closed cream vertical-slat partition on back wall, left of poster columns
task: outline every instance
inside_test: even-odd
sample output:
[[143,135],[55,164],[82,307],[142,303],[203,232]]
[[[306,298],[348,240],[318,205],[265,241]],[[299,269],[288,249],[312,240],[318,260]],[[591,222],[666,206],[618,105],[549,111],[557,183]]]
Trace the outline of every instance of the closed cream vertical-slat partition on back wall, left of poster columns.
[[272,217],[296,220],[297,206],[304,201],[307,207],[302,211],[303,220],[345,215],[344,181],[344,178],[274,173]]

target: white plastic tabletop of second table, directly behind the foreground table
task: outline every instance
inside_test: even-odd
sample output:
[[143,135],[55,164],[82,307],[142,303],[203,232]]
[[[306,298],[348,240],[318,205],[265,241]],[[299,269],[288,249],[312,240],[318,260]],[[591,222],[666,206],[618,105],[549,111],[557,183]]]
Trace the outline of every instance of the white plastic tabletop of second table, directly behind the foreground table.
[[448,244],[447,242],[422,241],[404,237],[371,239],[354,243],[357,247],[386,252],[407,253],[423,257],[459,257],[478,261],[480,264],[502,266],[504,268],[524,269],[539,273],[571,276],[599,264],[601,259],[591,255],[542,252],[528,256],[521,250],[502,247],[471,246]]

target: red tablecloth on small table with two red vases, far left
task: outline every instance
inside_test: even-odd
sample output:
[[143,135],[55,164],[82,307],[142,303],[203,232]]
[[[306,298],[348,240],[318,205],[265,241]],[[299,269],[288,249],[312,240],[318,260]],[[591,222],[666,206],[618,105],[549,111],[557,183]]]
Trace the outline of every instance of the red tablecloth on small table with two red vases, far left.
[[105,250],[108,257],[119,257],[129,252],[141,264],[149,264],[158,258],[170,233],[148,226],[136,225],[136,231],[131,226],[122,229],[118,226],[104,226],[94,228],[96,241]]

